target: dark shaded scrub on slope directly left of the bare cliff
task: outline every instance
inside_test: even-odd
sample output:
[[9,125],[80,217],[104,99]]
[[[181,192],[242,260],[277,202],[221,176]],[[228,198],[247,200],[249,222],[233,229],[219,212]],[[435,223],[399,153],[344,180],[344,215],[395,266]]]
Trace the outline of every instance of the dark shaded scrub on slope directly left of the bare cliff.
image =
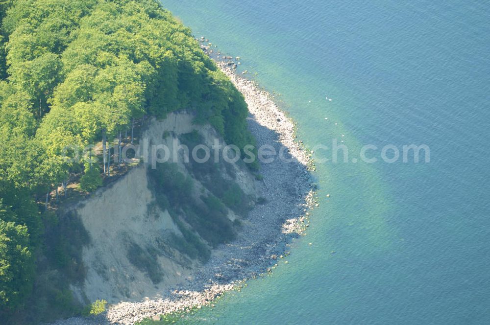
[[33,294],[25,299],[25,309],[7,324],[51,323],[58,318],[79,314],[83,305],[74,299],[69,284],[85,279],[81,261],[88,234],[76,214],[42,214],[46,234],[42,243],[45,257],[36,260],[37,277]]

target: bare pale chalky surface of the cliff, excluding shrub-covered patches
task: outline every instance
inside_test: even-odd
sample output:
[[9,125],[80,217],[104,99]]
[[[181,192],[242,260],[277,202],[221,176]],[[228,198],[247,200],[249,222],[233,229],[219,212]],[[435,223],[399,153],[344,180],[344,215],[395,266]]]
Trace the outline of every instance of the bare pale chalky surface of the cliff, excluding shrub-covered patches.
[[[190,113],[171,113],[164,120],[151,120],[141,137],[148,144],[147,161],[71,207],[71,212],[80,219],[90,238],[89,244],[81,252],[85,279],[83,283],[71,286],[80,302],[157,298],[168,288],[191,279],[192,272],[199,267],[199,259],[190,258],[169,245],[172,235],[182,237],[182,233],[175,217],[172,218],[168,210],[155,203],[156,194],[148,174],[155,157],[158,157],[152,154],[152,145],[166,145],[172,162],[174,139],[179,144],[179,136],[183,134],[196,131],[208,147],[213,145],[215,139],[224,144],[214,128],[207,124],[195,125],[193,119]],[[140,150],[139,154],[143,152]],[[193,181],[192,198],[189,199],[200,200],[203,195],[211,195],[209,185],[202,184],[202,177],[196,179],[190,170],[192,166],[184,163],[182,151],[176,161],[178,170]],[[245,165],[220,164],[223,170],[227,170],[222,174],[228,182],[236,183],[245,195],[255,198],[254,177]],[[231,221],[239,217],[228,207],[226,211]],[[189,228],[198,236],[196,229]],[[208,246],[212,249],[211,245]],[[138,263],[149,266],[142,267]],[[151,272],[148,268],[158,272],[156,280],[149,279]]]

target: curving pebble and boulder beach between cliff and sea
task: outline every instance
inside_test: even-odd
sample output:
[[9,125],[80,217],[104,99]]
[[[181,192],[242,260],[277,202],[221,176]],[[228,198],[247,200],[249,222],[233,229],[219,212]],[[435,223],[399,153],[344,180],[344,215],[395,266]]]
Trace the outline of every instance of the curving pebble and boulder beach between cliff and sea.
[[[204,46],[203,46],[204,47]],[[206,48],[203,48],[206,51]],[[201,308],[225,291],[241,286],[246,279],[272,271],[277,259],[289,255],[289,243],[304,234],[309,209],[316,204],[315,185],[309,173],[311,155],[295,140],[294,123],[275,104],[272,96],[240,75],[236,65],[217,61],[219,68],[243,93],[248,104],[248,125],[257,145],[269,144],[276,152],[286,147],[285,157],[261,163],[263,180],[257,181],[265,204],[250,211],[236,240],[215,250],[193,279],[181,283],[165,298],[144,302],[121,302],[94,318],[74,317],[55,325],[132,325],[145,318]],[[280,203],[280,204],[277,204]],[[278,257],[280,256],[280,257]]]

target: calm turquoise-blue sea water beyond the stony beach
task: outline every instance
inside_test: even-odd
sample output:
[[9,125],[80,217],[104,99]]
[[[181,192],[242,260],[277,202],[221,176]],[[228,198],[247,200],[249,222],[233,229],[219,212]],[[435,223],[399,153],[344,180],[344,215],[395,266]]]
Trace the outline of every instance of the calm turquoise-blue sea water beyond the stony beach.
[[430,147],[318,164],[289,263],[192,323],[490,324],[489,2],[403,2],[163,1],[280,93],[310,147]]

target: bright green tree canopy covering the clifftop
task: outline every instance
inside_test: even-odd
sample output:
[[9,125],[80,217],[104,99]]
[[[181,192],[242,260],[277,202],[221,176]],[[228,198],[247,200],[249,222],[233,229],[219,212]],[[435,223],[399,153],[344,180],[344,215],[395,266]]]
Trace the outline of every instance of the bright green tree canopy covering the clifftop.
[[[42,236],[36,198],[88,162],[67,146],[133,119],[191,109],[228,143],[253,142],[243,96],[154,0],[0,1],[0,309],[22,304]],[[77,165],[78,164],[78,165]],[[96,166],[99,170],[99,166]]]

